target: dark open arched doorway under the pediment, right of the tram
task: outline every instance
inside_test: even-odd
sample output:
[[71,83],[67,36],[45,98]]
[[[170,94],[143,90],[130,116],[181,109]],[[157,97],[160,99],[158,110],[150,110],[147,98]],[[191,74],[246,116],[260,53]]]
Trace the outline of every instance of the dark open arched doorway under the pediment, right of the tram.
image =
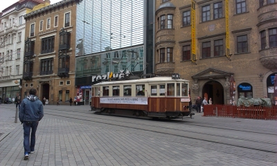
[[204,84],[202,89],[202,99],[207,101],[212,98],[213,104],[224,104],[224,89],[222,84],[217,81],[209,81]]

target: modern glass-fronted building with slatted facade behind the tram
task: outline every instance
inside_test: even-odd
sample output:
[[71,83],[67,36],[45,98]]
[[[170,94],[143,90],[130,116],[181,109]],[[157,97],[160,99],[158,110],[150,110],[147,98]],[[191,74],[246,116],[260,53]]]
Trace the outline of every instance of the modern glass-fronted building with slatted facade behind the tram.
[[76,16],[75,86],[89,89],[95,84],[92,76],[108,72],[154,73],[154,3],[80,1]]

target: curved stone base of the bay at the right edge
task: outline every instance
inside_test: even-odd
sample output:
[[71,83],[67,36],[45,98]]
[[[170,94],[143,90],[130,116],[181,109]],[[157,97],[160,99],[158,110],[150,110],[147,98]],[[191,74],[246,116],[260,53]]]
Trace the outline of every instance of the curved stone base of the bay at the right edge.
[[260,50],[260,63],[265,68],[276,70],[277,68],[277,47]]

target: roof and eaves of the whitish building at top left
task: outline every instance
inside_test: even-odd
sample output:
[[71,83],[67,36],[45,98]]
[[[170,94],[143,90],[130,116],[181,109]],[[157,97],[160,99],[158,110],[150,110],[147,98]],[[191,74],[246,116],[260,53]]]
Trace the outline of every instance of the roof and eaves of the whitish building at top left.
[[8,8],[4,9],[2,12],[0,12],[0,17],[3,17],[5,15],[7,15],[8,13],[13,12],[15,10],[19,11],[23,8],[33,9],[33,7],[39,3],[44,3],[44,1],[43,0],[19,0],[16,3],[13,3]]

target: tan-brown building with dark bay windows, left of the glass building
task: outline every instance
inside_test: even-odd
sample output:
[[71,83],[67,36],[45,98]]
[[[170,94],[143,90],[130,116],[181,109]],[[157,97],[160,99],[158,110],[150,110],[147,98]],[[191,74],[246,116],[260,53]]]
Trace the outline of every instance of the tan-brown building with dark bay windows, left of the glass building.
[[[69,104],[75,89],[75,16],[78,0],[37,6],[24,15],[26,39],[22,95],[37,89],[48,104]],[[48,3],[48,6],[47,6]],[[43,7],[43,8],[41,8]]]

